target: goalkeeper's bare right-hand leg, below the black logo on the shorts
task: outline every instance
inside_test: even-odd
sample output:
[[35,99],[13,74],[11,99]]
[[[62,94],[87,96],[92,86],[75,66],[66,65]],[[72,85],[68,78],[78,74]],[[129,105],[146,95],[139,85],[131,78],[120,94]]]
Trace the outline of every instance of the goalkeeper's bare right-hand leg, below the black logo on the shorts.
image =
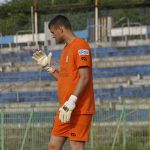
[[85,150],[85,142],[70,141],[71,150]]

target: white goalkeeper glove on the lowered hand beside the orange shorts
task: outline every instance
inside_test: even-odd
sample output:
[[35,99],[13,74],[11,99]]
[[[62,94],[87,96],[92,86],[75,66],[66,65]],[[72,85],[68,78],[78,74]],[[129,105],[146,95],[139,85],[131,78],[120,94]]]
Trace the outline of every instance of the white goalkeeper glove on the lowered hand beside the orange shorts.
[[59,108],[59,119],[62,123],[70,121],[71,113],[76,106],[76,101],[77,97],[75,95],[71,95],[69,100],[67,100],[64,105]]

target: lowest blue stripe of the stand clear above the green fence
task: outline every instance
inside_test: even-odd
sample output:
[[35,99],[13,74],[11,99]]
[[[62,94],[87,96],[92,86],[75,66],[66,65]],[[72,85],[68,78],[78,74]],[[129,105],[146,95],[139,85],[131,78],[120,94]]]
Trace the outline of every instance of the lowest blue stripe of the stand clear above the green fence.
[[[128,87],[123,90],[120,87],[109,89],[95,89],[95,99],[118,100],[118,97],[124,98],[148,98],[150,97],[150,87]],[[57,91],[19,92],[1,93],[0,102],[34,102],[34,101],[56,101]]]

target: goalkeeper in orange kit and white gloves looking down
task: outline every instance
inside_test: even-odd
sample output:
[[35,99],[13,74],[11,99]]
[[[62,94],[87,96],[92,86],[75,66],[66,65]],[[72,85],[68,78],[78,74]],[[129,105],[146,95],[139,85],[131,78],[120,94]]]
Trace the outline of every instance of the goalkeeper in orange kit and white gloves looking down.
[[65,43],[59,70],[51,65],[51,53],[46,56],[37,51],[33,55],[37,64],[58,81],[60,106],[54,119],[49,150],[62,150],[67,138],[71,150],[84,150],[95,114],[91,50],[85,40],[73,34],[65,16],[54,17],[48,27],[56,40]]

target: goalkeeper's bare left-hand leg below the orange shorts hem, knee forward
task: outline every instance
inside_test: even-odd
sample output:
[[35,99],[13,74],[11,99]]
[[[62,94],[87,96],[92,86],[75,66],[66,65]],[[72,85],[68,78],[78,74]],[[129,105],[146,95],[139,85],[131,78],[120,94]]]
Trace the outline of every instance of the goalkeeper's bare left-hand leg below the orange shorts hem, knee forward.
[[51,136],[48,150],[62,150],[62,146],[66,141],[66,137]]

